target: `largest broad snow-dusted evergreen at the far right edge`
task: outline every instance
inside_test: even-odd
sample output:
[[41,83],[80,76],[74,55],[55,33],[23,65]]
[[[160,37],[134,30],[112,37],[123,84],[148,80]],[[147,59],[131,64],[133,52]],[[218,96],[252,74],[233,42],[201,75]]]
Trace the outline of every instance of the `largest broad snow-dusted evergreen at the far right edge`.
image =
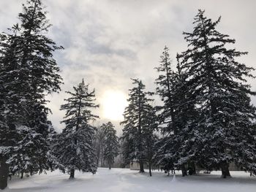
[[[199,10],[192,33],[184,33],[188,50],[181,54],[181,69],[186,73],[187,102],[195,101],[199,112],[194,126],[196,141],[192,146],[198,164],[207,169],[222,169],[230,175],[228,165],[234,161],[241,169],[255,172],[255,107],[249,96],[255,96],[246,84],[252,68],[236,61],[246,55],[228,48],[235,39],[217,31],[219,23],[206,18]],[[192,153],[192,150],[190,151]],[[186,158],[190,158],[187,154]],[[253,155],[254,154],[254,155]]]

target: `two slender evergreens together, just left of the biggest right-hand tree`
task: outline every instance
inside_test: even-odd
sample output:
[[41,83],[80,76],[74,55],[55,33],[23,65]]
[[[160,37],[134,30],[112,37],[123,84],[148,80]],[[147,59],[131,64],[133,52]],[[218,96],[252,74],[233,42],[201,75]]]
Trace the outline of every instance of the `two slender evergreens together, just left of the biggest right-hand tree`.
[[[170,170],[181,169],[182,175],[187,175],[184,156],[187,155],[187,135],[189,135],[189,119],[195,118],[195,112],[184,99],[187,97],[184,86],[184,74],[181,72],[179,62],[176,71],[171,67],[169,49],[165,46],[161,61],[156,67],[159,77],[156,80],[157,93],[163,101],[157,106],[159,127],[163,134],[156,144],[157,164],[169,174]],[[191,125],[190,125],[191,126]]]

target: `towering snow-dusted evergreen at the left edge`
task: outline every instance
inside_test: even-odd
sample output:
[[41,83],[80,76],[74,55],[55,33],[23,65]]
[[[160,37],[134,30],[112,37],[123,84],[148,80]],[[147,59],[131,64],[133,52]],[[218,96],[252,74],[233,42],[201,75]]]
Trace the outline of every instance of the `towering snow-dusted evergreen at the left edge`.
[[[0,155],[1,164],[10,164],[12,173],[34,174],[50,168],[48,141],[54,131],[47,119],[45,93],[60,90],[53,51],[62,47],[45,37],[50,25],[40,0],[23,4],[18,18],[20,26],[13,26],[12,34],[1,34]],[[24,150],[26,156],[17,158]]]

